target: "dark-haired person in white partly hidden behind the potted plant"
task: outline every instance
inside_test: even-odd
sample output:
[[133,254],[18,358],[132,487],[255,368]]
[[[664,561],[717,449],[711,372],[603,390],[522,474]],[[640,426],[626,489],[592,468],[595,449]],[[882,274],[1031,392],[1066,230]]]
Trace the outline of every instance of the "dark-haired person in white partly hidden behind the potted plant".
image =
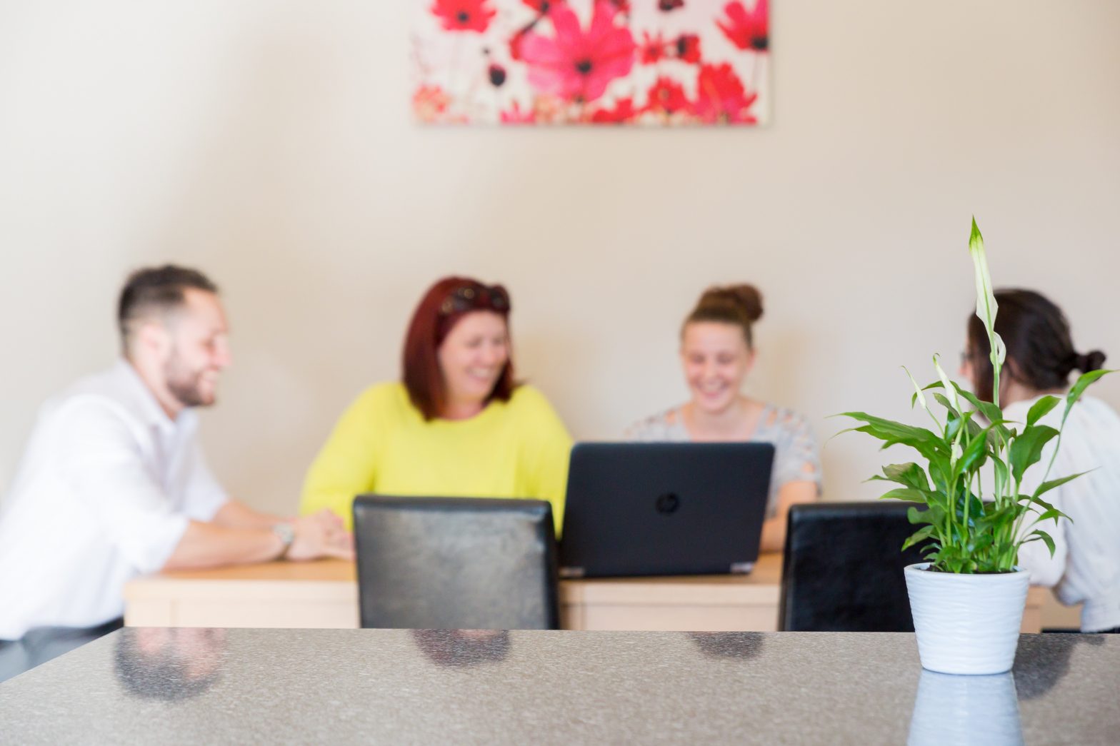
[[[999,403],[1008,420],[1026,421],[1039,398],[1064,397],[1073,372],[1088,373],[1104,365],[1104,353],[1099,349],[1076,352],[1062,309],[1040,293],[997,290],[995,296],[996,333],[1007,347]],[[971,316],[961,375],[987,401],[992,401],[990,349],[983,324]],[[1063,428],[1064,409],[1055,407],[1039,420],[1062,429],[1061,448],[1054,457],[1057,439],[1046,445],[1043,466],[1027,472],[1019,493],[1034,494],[1044,479],[1086,474],[1044,496],[1071,519],[1034,526],[1054,540],[1053,557],[1043,541],[1034,540],[1019,550],[1018,563],[1030,570],[1032,584],[1053,586],[1062,603],[1084,604],[1082,632],[1120,632],[1120,417],[1100,399],[1083,395]]]

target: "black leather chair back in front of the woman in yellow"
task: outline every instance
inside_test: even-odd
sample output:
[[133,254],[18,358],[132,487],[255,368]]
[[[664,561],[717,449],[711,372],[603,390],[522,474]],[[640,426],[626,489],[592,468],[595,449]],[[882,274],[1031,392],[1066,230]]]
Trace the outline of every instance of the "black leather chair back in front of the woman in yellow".
[[354,538],[363,627],[559,627],[544,501],[363,495]]

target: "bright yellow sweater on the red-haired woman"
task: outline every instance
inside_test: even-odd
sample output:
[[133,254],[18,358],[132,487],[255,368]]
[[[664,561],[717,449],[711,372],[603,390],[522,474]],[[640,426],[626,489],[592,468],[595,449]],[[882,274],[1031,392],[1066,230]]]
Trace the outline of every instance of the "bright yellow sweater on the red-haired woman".
[[536,389],[517,386],[468,420],[424,421],[402,383],[366,389],[311,464],[301,513],[352,526],[354,496],[535,497],[563,525],[571,438]]

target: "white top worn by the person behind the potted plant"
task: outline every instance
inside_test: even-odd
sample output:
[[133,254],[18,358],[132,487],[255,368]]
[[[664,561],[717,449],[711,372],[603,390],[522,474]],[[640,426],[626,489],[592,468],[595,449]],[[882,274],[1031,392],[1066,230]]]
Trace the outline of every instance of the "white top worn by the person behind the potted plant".
[[[1035,401],[1009,404],[1004,414],[1025,422]],[[1063,401],[1040,422],[1058,429],[1064,410]],[[1027,470],[1020,493],[1034,494],[1042,483],[1055,440]],[[1019,550],[1019,566],[1030,570],[1032,584],[1054,586],[1063,604],[1084,603],[1081,628],[1099,632],[1120,626],[1120,417],[1092,397],[1082,397],[1070,411],[1046,478],[1080,472],[1089,474],[1042,495],[1072,520],[1062,519],[1057,525],[1047,520],[1035,526],[1054,539],[1054,557],[1045,543],[1033,541]]]

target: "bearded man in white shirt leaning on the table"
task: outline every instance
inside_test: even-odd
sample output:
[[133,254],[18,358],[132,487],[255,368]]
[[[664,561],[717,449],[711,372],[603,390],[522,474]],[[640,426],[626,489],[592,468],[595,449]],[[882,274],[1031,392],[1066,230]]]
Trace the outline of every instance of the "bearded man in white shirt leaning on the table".
[[230,364],[217,288],[194,270],[140,270],[118,318],[123,360],[43,407],[0,504],[0,663],[27,668],[59,634],[113,628],[139,575],[353,556],[329,511],[260,513],[206,467],[192,410],[214,403]]

